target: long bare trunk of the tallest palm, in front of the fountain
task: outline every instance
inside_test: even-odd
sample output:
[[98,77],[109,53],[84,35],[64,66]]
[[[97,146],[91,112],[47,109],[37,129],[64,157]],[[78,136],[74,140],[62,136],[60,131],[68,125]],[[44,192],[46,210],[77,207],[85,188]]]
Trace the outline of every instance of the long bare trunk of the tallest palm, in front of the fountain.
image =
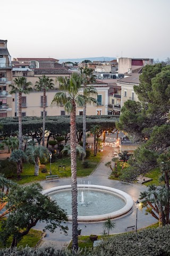
[[71,188],[72,188],[72,250],[78,250],[78,188],[76,161],[75,102],[70,115]]

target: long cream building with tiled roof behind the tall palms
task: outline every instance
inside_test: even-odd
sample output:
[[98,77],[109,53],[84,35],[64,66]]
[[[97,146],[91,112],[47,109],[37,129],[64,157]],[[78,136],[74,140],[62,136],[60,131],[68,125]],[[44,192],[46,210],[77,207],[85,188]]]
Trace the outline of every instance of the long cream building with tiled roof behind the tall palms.
[[[55,90],[46,92],[46,115],[58,116],[67,115],[64,106],[51,106],[51,102],[56,92],[60,92],[59,84],[56,82],[58,76],[70,77],[71,72],[65,68],[61,69],[34,69],[23,70],[16,69],[12,71],[13,79],[18,76],[27,77],[27,81],[31,82],[33,87],[39,77],[43,75],[49,76],[54,80]],[[87,115],[107,115],[108,105],[108,89],[107,83],[97,82],[92,84],[98,92],[98,105],[87,105]],[[83,90],[80,90],[83,93]],[[83,108],[77,106],[77,115],[82,115]],[[12,116],[18,116],[18,93],[12,94]],[[22,94],[22,116],[43,116],[43,91],[32,91],[30,94]]]

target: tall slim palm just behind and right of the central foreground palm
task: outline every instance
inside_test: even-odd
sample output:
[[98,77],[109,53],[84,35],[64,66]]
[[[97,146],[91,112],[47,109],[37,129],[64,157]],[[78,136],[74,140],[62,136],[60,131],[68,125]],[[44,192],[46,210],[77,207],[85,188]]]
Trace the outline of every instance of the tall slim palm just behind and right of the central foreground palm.
[[83,95],[86,97],[86,101],[83,106],[83,149],[86,151],[86,105],[87,103],[97,103],[97,100],[91,98],[91,96],[97,95],[97,90],[94,86],[88,86],[90,83],[96,81],[95,76],[93,75],[93,70],[91,68],[85,67],[81,68],[81,78],[83,83]]

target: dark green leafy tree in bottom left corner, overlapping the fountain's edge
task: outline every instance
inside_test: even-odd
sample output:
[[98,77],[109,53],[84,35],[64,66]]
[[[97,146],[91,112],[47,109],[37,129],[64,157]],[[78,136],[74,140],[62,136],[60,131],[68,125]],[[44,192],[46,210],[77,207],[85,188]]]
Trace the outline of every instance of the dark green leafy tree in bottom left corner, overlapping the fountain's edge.
[[0,233],[4,244],[12,235],[11,246],[16,246],[16,241],[27,235],[30,229],[36,226],[37,221],[46,222],[45,229],[51,232],[59,227],[64,234],[67,233],[68,228],[62,225],[62,222],[67,220],[64,210],[51,198],[43,195],[42,190],[39,183],[26,187],[18,186],[10,190],[7,208],[12,211],[8,218],[2,221]]

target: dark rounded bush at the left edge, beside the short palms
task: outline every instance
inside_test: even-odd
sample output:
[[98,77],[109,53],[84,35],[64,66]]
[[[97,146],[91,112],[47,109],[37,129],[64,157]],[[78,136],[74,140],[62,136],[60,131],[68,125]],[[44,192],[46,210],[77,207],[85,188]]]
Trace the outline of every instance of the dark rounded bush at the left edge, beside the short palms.
[[16,163],[6,158],[0,162],[0,172],[4,174],[5,178],[13,177],[17,172]]

